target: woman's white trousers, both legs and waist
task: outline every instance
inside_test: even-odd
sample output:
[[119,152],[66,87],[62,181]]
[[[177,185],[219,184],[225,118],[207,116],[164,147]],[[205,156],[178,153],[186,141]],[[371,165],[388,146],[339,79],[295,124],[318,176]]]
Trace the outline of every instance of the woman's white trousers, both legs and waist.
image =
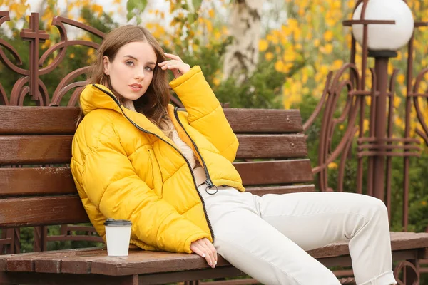
[[358,285],[397,284],[392,273],[387,208],[352,193],[305,192],[259,197],[232,187],[198,190],[218,253],[263,284],[340,284],[305,250],[350,239]]

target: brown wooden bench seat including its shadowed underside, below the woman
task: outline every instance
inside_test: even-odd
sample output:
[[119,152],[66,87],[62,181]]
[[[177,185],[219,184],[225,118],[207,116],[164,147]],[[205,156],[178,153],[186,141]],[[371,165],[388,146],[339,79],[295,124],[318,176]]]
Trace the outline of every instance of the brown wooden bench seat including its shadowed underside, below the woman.
[[[427,255],[428,233],[392,232],[391,240],[394,259],[420,259]],[[308,253],[326,266],[350,265],[347,241]],[[192,271],[191,277],[189,271]],[[35,284],[49,284],[49,281],[75,284],[73,282],[80,279],[87,282],[89,275],[96,276],[95,282],[100,284],[164,284],[192,280],[198,275],[208,279],[243,274],[220,256],[218,266],[211,269],[205,259],[196,254],[131,249],[128,257],[108,257],[105,248],[4,255],[0,257],[0,272],[0,281],[17,284],[35,279],[41,282]]]

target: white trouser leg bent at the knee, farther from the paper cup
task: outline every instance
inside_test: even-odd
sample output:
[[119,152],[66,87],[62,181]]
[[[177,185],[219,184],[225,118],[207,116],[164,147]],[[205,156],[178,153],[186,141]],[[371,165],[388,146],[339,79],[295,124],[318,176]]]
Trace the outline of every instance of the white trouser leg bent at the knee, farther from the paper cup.
[[381,200],[340,192],[254,197],[260,217],[302,249],[350,239],[357,284],[397,284],[392,273],[387,208]]

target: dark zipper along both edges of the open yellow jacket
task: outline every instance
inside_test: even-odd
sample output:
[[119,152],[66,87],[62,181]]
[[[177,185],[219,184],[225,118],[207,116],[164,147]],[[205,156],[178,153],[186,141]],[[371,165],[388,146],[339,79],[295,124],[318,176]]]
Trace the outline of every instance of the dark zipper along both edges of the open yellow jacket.
[[[113,95],[113,94],[111,94],[111,93],[109,93],[109,92],[107,92],[106,90],[103,90],[102,88],[99,88],[98,86],[96,86],[95,84],[92,84],[92,86],[94,86],[95,88],[97,88],[97,89],[99,89],[99,90],[101,90],[103,93],[106,93],[110,98],[112,98],[113,100],[114,100],[114,102],[119,106],[119,108],[121,109],[121,112],[122,112],[122,114],[123,114],[123,116],[131,123],[131,124],[133,124],[136,128],[138,128],[138,130],[141,130],[143,133],[148,133],[148,134],[151,134],[151,135],[154,135],[156,138],[158,138],[159,140],[162,140],[163,142],[166,142],[168,145],[170,145],[171,147],[173,147],[173,149],[174,150],[176,150],[183,158],[184,158],[184,160],[185,160],[185,163],[188,165],[188,167],[189,167],[189,170],[190,170],[190,174],[192,175],[192,179],[193,179],[193,185],[195,185],[195,190],[196,190],[196,192],[198,193],[198,195],[199,195],[199,198],[200,198],[200,201],[202,202],[202,206],[203,206],[203,212],[204,212],[204,214],[205,214],[205,218],[206,218],[206,220],[207,220],[207,223],[208,223],[208,228],[210,229],[210,234],[211,234],[211,237],[213,237],[213,242],[214,242],[214,231],[213,231],[213,227],[212,227],[212,225],[211,225],[211,222],[210,222],[210,219],[208,218],[208,213],[207,213],[207,209],[206,209],[206,207],[205,207],[205,201],[204,201],[204,199],[203,199],[203,197],[202,197],[202,195],[200,195],[200,193],[199,193],[199,191],[198,191],[198,185],[196,185],[196,179],[195,179],[195,174],[193,173],[193,170],[192,170],[192,167],[190,166],[190,162],[188,162],[188,160],[187,160],[187,158],[185,158],[185,156],[183,155],[183,153],[181,153],[180,152],[180,150],[178,150],[178,148],[177,147],[175,147],[174,145],[171,145],[169,142],[167,142],[166,140],[164,140],[163,138],[161,138],[160,136],[158,136],[158,135],[156,135],[156,133],[151,133],[151,132],[149,132],[148,130],[145,130],[145,129],[143,129],[143,128],[141,128],[139,125],[137,125],[133,120],[131,120],[130,118],[128,118],[128,116],[125,114],[125,112],[123,112],[123,109],[122,109],[122,106],[121,106],[121,103],[119,103],[119,101],[118,101],[118,99],[116,98],[116,96],[115,95]],[[180,121],[178,121],[178,123],[180,123]],[[180,125],[181,125],[181,123],[180,123]],[[183,125],[181,125],[181,127],[183,128]],[[184,130],[184,128],[183,128],[183,130]],[[187,134],[187,132],[186,132],[186,134]],[[190,138],[190,136],[189,136],[189,138]],[[196,148],[196,145],[195,145],[195,142],[193,142],[193,140],[190,138],[190,140],[192,141],[192,143],[193,143],[193,145],[195,146],[195,149],[198,151],[198,149]],[[200,156],[200,153],[199,153],[199,151],[198,151],[198,154],[199,154],[199,156]],[[202,156],[200,156],[200,159],[202,160],[202,162],[203,162],[203,165],[204,165],[204,168],[206,167],[206,165],[205,165],[205,162],[203,161],[203,159],[202,159]],[[208,173],[208,170],[206,170],[206,168],[205,168],[205,174],[206,175],[208,175],[207,176],[207,180],[210,180],[210,178],[209,178],[209,173]],[[206,181],[205,181],[206,182]],[[213,182],[211,182],[211,180],[210,180],[210,183],[211,183],[211,187],[215,187],[215,185],[213,185]],[[208,185],[208,184],[207,184]],[[208,185],[208,187],[210,187],[210,185]],[[216,187],[217,188],[217,187]]]

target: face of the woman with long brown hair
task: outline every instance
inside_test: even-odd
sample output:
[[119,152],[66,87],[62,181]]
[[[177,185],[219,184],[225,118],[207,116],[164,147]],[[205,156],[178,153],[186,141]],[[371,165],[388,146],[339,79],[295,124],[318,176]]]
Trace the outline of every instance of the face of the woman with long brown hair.
[[140,98],[153,79],[156,53],[143,41],[127,43],[119,48],[113,61],[103,57],[104,73],[110,76],[111,87],[123,98]]

